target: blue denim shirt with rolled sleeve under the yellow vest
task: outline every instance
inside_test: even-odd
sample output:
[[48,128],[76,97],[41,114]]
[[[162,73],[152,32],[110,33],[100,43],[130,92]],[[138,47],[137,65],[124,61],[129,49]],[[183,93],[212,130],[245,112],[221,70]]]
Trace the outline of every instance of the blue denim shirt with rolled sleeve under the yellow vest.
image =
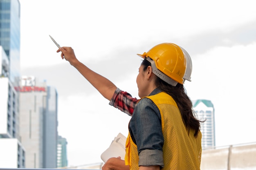
[[[150,93],[155,95],[161,90],[156,88]],[[137,145],[139,166],[164,166],[161,114],[155,103],[142,98],[137,103],[129,123],[132,141]]]

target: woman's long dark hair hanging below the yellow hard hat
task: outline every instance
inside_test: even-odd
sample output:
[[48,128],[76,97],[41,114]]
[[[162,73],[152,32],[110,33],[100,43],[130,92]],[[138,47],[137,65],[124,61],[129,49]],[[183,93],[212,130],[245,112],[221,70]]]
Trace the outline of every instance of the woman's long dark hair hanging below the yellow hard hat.
[[[144,66],[143,71],[145,71],[148,66],[151,66],[150,62],[148,62],[147,60],[143,60],[141,65]],[[164,82],[162,79],[157,77],[155,85],[157,86],[157,88],[161,89],[162,91],[173,97],[178,108],[180,109],[182,120],[186,128],[188,129],[188,131],[190,130],[190,128],[195,130],[194,137],[196,137],[200,131],[200,122],[203,121],[195,118],[192,109],[193,104],[191,102],[191,99],[186,94],[186,90],[183,84],[178,83],[176,86],[171,86],[170,84]]]

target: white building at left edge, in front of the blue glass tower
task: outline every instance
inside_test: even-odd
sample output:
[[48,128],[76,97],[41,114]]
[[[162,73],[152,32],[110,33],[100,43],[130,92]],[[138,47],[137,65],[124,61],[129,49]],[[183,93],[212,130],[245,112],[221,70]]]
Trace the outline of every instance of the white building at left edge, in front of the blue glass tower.
[[18,133],[18,95],[9,81],[9,60],[0,46],[0,167],[25,168],[25,148]]

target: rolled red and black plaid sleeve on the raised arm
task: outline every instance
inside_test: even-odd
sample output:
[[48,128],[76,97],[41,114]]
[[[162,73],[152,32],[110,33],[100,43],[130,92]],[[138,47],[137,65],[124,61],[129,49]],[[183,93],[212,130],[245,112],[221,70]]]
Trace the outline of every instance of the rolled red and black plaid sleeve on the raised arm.
[[109,104],[131,116],[138,101],[139,99],[117,88]]

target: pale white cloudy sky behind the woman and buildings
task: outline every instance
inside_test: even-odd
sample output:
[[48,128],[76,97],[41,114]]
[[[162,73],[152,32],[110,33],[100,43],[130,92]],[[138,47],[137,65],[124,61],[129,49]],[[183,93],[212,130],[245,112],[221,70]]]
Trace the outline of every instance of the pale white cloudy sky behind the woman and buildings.
[[69,166],[101,162],[101,153],[129,116],[61,60],[51,35],[77,58],[137,97],[136,53],[173,42],[191,55],[192,100],[211,100],[216,146],[256,141],[254,0],[20,0],[22,75],[58,91],[58,132],[67,139]]

